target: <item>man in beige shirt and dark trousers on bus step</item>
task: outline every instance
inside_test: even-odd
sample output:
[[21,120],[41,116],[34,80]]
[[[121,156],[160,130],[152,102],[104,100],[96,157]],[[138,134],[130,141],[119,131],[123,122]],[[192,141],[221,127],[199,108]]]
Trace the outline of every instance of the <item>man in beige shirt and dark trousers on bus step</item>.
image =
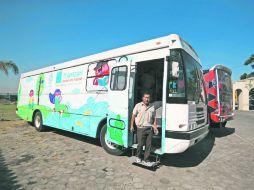
[[131,118],[131,132],[134,131],[134,121],[137,126],[137,163],[141,162],[143,146],[145,145],[144,161],[150,165],[148,158],[151,152],[153,133],[158,134],[156,126],[156,112],[154,106],[150,103],[150,94],[145,92],[142,102],[135,105]]

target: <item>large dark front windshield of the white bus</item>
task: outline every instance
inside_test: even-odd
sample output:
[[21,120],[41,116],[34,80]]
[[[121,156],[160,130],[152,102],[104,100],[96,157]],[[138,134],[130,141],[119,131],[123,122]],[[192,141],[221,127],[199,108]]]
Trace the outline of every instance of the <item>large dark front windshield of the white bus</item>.
[[[177,51],[178,75],[174,74],[176,56],[171,57],[168,71],[168,103],[187,103],[187,101],[206,102],[205,88],[200,64],[183,50]],[[173,59],[173,60],[172,60]],[[175,60],[174,60],[175,59]]]

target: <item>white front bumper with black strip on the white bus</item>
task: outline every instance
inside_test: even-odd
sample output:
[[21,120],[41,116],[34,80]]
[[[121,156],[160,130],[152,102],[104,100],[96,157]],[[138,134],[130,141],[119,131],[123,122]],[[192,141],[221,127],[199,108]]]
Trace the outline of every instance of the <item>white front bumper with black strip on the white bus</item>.
[[182,153],[197,144],[209,132],[208,124],[192,131],[168,131],[165,133],[165,153]]

